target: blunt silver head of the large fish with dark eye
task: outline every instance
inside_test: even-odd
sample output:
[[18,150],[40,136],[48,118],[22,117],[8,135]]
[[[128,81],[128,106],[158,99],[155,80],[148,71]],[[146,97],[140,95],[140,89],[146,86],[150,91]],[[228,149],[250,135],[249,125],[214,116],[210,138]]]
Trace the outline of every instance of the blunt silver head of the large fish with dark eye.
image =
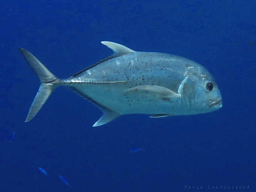
[[222,107],[218,86],[203,66],[187,70],[184,81],[182,98],[188,114],[208,113]]

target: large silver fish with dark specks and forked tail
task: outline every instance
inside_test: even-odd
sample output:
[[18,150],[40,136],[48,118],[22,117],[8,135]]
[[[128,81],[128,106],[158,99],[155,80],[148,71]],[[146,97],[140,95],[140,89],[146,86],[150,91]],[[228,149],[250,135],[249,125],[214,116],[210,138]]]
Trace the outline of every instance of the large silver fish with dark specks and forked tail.
[[20,48],[41,81],[26,122],[59,85],[101,108],[103,115],[94,127],[122,114],[166,117],[207,113],[222,107],[216,82],[198,63],[166,53],[137,52],[113,42],[101,43],[112,49],[113,55],[67,79],[58,79],[31,53]]

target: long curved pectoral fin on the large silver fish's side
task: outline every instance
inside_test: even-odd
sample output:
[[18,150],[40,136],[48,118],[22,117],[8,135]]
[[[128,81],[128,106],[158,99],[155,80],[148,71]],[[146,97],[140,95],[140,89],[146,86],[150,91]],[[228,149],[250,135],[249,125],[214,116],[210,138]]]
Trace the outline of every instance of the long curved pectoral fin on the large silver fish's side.
[[160,100],[174,101],[174,98],[179,97],[174,91],[158,85],[141,85],[132,87],[125,90],[127,92],[138,92],[138,94],[151,95],[152,97],[158,97]]

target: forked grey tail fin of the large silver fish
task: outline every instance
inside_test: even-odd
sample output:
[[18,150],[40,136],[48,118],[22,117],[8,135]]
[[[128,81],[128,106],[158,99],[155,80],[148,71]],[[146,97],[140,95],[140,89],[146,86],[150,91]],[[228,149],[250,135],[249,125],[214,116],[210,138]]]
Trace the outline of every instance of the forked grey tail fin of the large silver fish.
[[41,86],[37,92],[36,97],[30,107],[27,118],[25,122],[30,121],[46,102],[47,98],[50,96],[56,83],[59,82],[59,79],[55,77],[36,57],[34,57],[26,49],[19,48],[23,57],[26,59],[30,68],[34,71],[38,79],[41,81]]

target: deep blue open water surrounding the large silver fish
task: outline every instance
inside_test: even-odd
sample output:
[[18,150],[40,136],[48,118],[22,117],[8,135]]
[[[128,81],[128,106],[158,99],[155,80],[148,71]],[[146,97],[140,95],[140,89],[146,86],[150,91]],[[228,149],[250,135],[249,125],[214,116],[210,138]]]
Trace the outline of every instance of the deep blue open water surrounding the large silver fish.
[[[227,0],[2,1],[0,190],[256,191],[255,7]],[[223,107],[192,116],[124,115],[92,127],[101,110],[58,87],[25,123],[40,82],[18,47],[67,78],[112,54],[101,41],[202,64]]]

